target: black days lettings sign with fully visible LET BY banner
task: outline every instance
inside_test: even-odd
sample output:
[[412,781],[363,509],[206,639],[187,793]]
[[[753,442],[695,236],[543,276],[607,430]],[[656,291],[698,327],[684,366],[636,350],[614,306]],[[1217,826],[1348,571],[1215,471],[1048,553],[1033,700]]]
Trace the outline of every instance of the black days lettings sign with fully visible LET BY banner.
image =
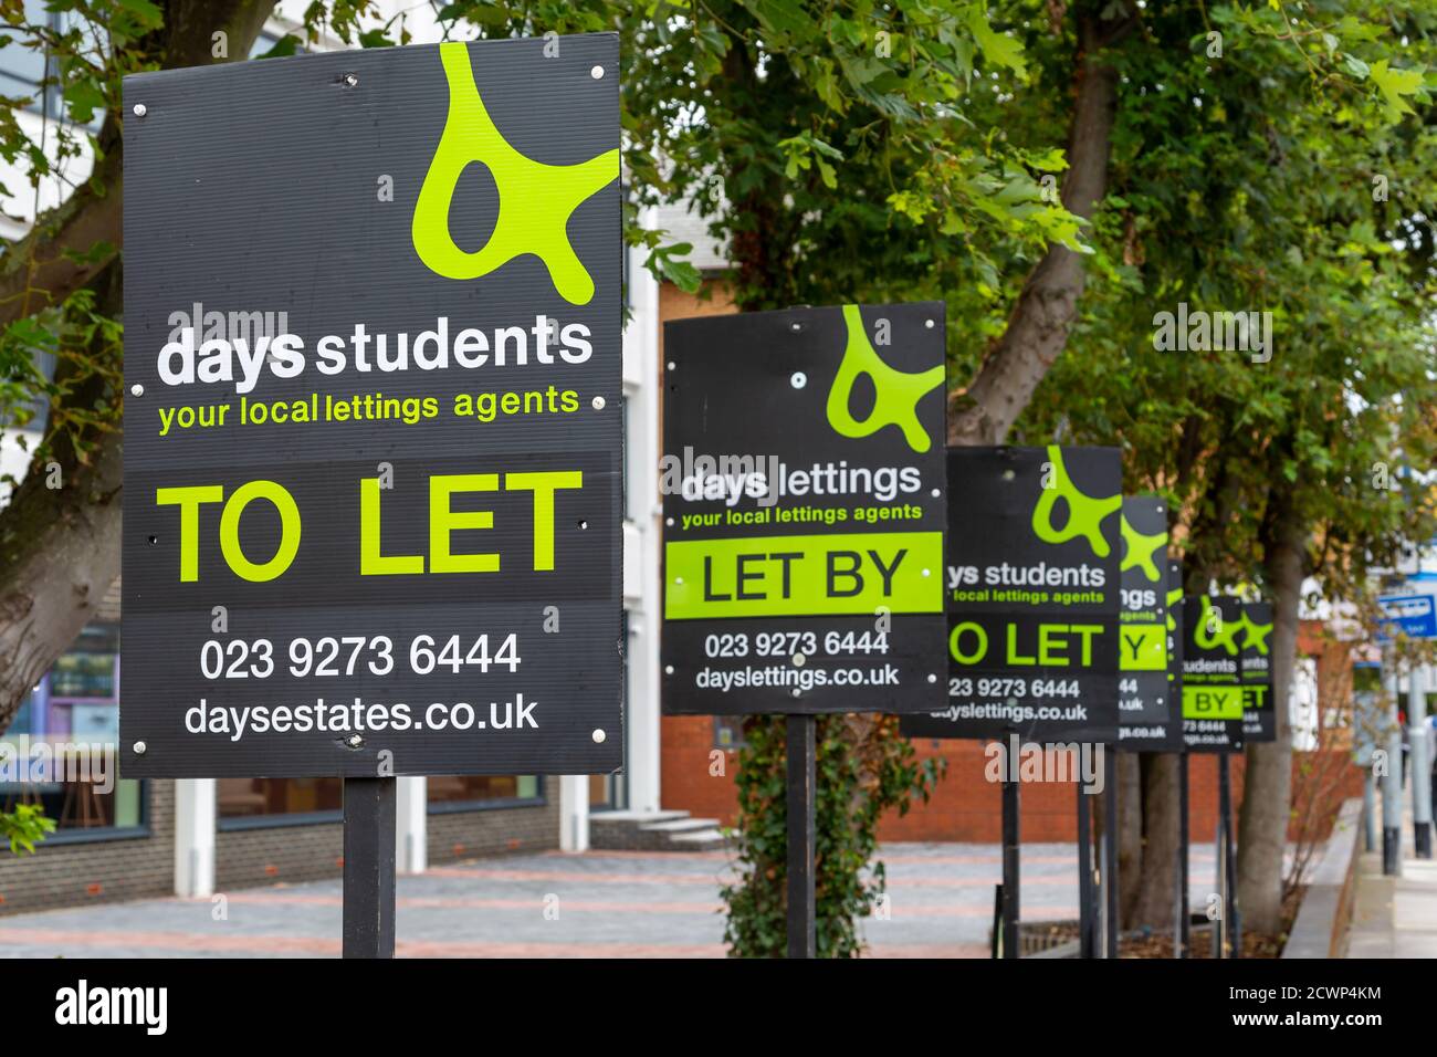
[[941,699],[940,302],[664,326],[664,710]]

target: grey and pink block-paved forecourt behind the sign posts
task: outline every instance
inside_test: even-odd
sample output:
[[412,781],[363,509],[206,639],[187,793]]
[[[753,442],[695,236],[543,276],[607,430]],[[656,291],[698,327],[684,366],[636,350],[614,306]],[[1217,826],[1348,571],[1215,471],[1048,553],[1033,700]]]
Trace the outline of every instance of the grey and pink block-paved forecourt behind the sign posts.
[[[1194,848],[1194,899],[1211,848]],[[890,844],[891,919],[864,925],[877,956],[986,958],[990,844]],[[1023,848],[1023,918],[1076,916],[1071,844]],[[535,854],[399,877],[397,953],[408,958],[721,958],[723,851]],[[547,909],[547,918],[546,918]],[[19,958],[270,958],[339,953],[341,884],[276,884],[224,900],[135,903],[0,918],[0,955]]]

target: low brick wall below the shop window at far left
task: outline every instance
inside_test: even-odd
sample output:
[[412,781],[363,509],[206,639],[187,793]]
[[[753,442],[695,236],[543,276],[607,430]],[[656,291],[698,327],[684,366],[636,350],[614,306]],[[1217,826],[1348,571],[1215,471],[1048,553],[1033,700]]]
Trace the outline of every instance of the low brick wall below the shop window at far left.
[[148,784],[149,836],[39,844],[33,856],[0,847],[0,913],[174,893],[174,781]]

